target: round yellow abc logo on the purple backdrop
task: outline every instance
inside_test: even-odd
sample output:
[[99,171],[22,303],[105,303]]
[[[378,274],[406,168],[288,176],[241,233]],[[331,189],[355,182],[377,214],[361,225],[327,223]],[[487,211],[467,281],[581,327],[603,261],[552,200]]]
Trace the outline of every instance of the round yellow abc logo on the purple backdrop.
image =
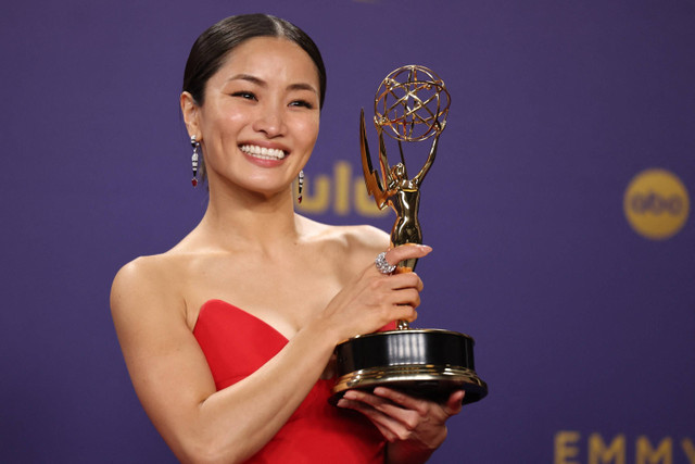
[[687,190],[674,174],[646,170],[628,185],[623,210],[634,231],[652,240],[666,240],[685,225],[690,210]]

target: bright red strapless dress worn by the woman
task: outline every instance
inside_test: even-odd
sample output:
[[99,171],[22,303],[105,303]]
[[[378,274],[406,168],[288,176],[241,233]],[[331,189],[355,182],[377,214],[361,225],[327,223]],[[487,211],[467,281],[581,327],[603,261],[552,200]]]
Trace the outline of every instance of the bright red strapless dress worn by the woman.
[[[210,300],[193,335],[205,353],[217,390],[253,374],[288,342],[257,317]],[[251,463],[383,463],[384,439],[362,414],[328,404],[333,380],[319,379],[302,404]]]

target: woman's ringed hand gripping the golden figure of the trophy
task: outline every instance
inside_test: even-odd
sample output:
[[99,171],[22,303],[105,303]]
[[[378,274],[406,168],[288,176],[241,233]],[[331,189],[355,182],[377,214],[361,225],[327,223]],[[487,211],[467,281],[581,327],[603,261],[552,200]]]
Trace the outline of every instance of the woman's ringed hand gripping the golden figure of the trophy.
[[[422,258],[432,249],[421,244],[403,244],[387,252],[394,264],[412,258]],[[361,334],[372,333],[384,325],[417,318],[422,280],[413,272],[381,274],[370,263],[328,304],[323,318],[337,331],[337,342]]]

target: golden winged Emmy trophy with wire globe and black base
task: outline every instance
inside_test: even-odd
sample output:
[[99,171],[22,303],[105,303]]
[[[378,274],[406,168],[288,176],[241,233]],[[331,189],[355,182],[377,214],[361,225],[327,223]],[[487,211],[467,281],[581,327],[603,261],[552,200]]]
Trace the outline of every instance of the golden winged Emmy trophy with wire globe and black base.
[[[418,221],[420,186],[437,155],[448,105],[450,95],[444,81],[425,66],[399,67],[382,80],[375,98],[374,118],[379,135],[380,177],[371,164],[362,111],[359,143],[365,183],[379,209],[388,204],[395,211],[392,247],[422,242]],[[387,156],[384,131],[399,145],[401,161],[393,166]],[[410,178],[403,142],[419,142],[432,137],[427,160]],[[386,260],[380,259],[382,262],[378,259],[377,266],[388,267]],[[410,272],[416,264],[417,259],[405,260],[394,271]],[[434,401],[445,401],[454,390],[464,389],[464,403],[481,400],[488,394],[488,386],[475,372],[473,343],[467,335],[414,329],[406,321],[399,321],[396,330],[351,338],[336,347],[338,380],[332,401],[338,401],[346,390],[372,390],[378,386]]]

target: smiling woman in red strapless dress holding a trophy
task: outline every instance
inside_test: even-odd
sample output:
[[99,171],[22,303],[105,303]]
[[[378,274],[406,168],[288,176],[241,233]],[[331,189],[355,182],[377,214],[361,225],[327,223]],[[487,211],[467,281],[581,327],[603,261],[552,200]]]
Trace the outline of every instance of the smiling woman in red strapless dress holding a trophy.
[[208,206],[172,250],[124,266],[111,296],[137,394],[181,461],[424,462],[460,410],[463,392],[444,405],[384,388],[326,401],[336,344],[414,321],[422,283],[376,268],[386,234],[293,211],[325,76],[308,36],[273,16],[226,18],[191,50],[180,105]]

